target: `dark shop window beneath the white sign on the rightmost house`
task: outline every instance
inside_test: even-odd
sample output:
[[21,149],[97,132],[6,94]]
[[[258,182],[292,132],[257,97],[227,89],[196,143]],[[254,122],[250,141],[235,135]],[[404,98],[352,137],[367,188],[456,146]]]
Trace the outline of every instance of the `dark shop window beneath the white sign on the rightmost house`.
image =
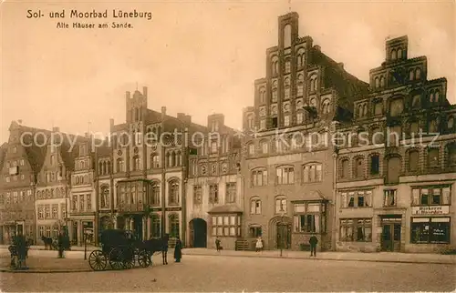
[[412,217],[410,242],[450,243],[450,217]]

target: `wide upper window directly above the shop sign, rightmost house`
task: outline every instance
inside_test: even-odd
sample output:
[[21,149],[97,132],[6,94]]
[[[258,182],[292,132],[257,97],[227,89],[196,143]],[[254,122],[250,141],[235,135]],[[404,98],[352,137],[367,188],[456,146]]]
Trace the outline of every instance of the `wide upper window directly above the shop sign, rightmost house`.
[[416,187],[411,190],[412,206],[443,206],[451,204],[451,187]]

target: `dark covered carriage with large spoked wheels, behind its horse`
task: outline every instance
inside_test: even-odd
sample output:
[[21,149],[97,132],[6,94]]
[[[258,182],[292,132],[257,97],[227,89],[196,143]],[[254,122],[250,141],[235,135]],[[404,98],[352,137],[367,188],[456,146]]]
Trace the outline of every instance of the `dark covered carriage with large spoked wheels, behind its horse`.
[[137,240],[128,230],[107,229],[100,235],[101,250],[94,250],[88,257],[88,265],[93,270],[133,268],[136,262],[143,268],[151,263],[150,251],[142,241]]

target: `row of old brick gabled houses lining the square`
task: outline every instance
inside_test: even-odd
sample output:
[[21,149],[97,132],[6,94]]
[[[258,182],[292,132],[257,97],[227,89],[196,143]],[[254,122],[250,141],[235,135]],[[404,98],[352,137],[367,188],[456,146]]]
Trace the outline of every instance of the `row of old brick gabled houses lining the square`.
[[[390,39],[368,83],[278,19],[244,132],[205,126],[148,93],[126,94],[126,120],[103,140],[13,122],[1,147],[1,238],[37,242],[67,229],[74,245],[122,228],[188,247],[440,251],[454,246],[456,106],[427,58]],[[150,139],[152,137],[152,139]],[[155,138],[153,138],[155,137]],[[451,233],[452,232],[452,233]],[[171,243],[172,244],[172,243]]]

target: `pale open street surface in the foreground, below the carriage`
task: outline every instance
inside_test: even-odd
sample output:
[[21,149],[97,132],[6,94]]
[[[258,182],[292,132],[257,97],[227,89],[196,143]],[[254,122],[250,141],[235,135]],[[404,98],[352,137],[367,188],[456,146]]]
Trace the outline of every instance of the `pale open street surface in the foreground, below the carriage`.
[[456,266],[184,255],[151,268],[1,276],[5,292],[452,291]]

